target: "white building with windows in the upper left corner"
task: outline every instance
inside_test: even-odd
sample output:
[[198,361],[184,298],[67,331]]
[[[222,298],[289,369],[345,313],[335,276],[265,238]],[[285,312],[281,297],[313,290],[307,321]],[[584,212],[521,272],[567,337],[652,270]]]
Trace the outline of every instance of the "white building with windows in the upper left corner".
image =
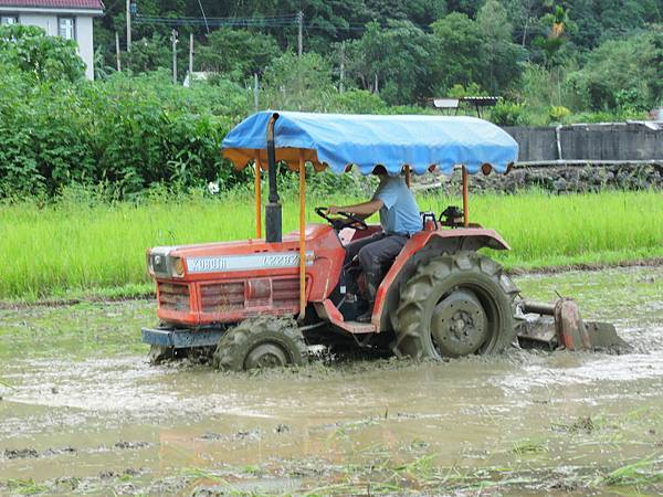
[[75,40],[88,80],[94,80],[92,19],[103,13],[102,0],[0,0],[1,24],[38,25],[52,36]]

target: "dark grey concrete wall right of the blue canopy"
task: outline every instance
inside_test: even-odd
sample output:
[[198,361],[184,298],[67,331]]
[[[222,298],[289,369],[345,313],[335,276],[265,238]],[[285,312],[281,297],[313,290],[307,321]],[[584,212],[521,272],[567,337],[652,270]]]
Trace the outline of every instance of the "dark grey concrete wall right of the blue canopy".
[[[555,127],[504,129],[518,142],[520,162],[560,159]],[[663,160],[663,126],[651,129],[636,123],[573,125],[562,127],[559,138],[565,160]]]

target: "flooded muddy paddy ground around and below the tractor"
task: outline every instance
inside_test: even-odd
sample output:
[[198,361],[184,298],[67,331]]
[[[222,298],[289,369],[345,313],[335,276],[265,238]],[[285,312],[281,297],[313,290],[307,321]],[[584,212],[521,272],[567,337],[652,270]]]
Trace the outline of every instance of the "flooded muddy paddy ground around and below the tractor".
[[532,275],[629,355],[150,367],[151,303],[0,310],[0,494],[663,493],[663,268]]

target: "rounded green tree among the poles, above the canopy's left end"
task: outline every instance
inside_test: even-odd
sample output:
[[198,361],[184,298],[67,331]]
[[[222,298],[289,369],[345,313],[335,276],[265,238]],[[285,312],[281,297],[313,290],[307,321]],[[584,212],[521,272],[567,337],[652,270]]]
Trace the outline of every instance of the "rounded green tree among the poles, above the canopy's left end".
[[262,73],[281,51],[269,35],[248,30],[222,28],[208,36],[208,44],[197,50],[197,65],[203,71],[227,74],[233,81],[243,81],[253,73]]

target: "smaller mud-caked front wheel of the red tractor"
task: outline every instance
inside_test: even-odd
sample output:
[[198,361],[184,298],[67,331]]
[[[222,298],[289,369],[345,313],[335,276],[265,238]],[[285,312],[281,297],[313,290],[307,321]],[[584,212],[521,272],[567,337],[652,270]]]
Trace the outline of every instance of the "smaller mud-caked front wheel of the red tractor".
[[306,342],[292,318],[261,316],[229,329],[217,345],[213,363],[219,369],[302,366],[308,360]]

